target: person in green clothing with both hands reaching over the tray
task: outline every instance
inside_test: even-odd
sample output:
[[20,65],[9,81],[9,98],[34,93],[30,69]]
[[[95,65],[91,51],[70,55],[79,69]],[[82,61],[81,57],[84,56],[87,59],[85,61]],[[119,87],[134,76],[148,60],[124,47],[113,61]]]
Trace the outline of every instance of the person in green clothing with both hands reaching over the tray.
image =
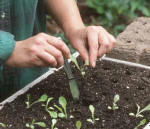
[[48,70],[60,67],[70,51],[46,34],[46,14],[63,29],[70,44],[95,67],[116,40],[101,26],[85,26],[75,0],[0,1],[0,97],[19,90]]

